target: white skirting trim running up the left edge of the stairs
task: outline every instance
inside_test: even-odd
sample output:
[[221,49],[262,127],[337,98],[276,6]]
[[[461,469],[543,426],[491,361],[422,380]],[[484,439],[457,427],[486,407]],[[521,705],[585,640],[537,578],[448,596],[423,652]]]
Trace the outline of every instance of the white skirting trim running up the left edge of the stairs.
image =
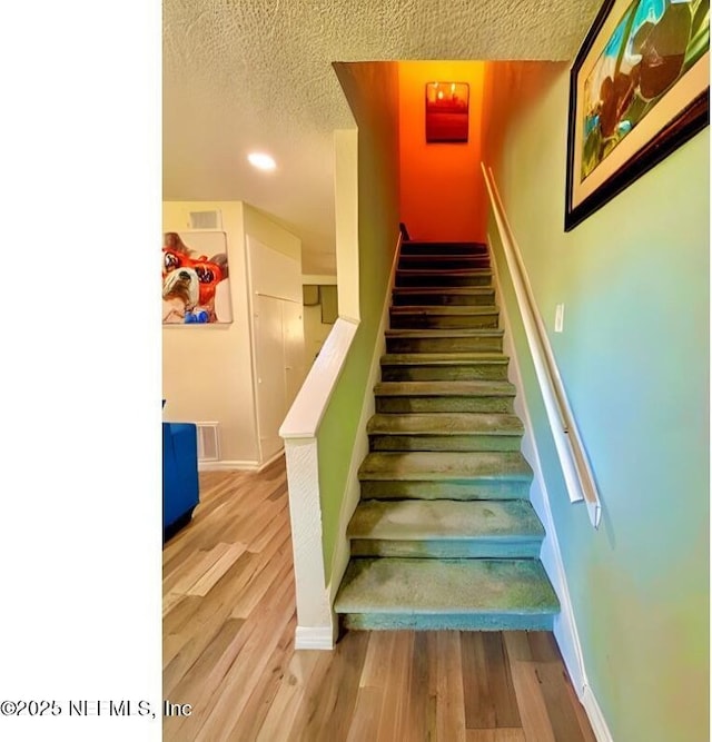
[[364,400],[360,408],[360,417],[356,428],[356,439],[354,441],[354,447],[352,448],[352,459],[348,467],[348,477],[346,479],[346,492],[344,493],[344,498],[342,499],[342,507],[339,511],[339,525],[336,534],[336,543],[334,545],[334,557],[332,560],[332,583],[329,586],[332,604],[334,604],[336,593],[338,592],[339,585],[342,584],[342,578],[344,577],[344,573],[348,566],[348,560],[350,558],[350,544],[349,540],[346,537],[346,528],[348,527],[348,522],[352,520],[352,515],[354,514],[354,511],[358,505],[358,501],[360,499],[360,482],[358,481],[358,468],[368,454],[368,434],[366,433],[366,425],[376,413],[376,398],[373,389],[376,386],[376,383],[380,380],[380,357],[386,349],[386,329],[390,324],[389,309],[396,277],[396,266],[398,265],[398,256],[400,254],[400,240],[402,236],[398,234],[396,249],[393,256],[393,263],[390,265],[388,288],[384,297],[383,310],[380,313],[380,323],[378,324],[374,352],[370,357],[370,368],[368,370],[368,380],[366,382],[366,394],[364,395]]

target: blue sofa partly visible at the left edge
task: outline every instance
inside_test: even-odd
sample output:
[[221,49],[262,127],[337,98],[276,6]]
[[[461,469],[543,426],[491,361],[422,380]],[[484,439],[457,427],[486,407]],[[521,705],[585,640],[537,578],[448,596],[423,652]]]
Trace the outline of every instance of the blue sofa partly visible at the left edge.
[[190,523],[199,502],[198,429],[164,423],[164,542]]

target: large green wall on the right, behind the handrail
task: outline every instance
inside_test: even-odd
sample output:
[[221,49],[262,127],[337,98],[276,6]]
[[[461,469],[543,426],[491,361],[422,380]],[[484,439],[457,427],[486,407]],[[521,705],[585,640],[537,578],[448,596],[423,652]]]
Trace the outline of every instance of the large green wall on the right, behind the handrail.
[[[493,166],[603,505],[571,504],[504,297],[585,669],[615,742],[709,740],[709,128],[563,231],[568,76],[490,63]],[[504,267],[490,218],[497,263]],[[504,273],[504,271],[503,271]],[[564,333],[553,333],[565,304]]]

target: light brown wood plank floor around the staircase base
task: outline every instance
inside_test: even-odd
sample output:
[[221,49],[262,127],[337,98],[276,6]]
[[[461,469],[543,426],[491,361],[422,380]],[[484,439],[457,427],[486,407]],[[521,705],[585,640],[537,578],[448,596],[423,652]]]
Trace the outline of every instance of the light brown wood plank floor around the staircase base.
[[595,742],[548,632],[347,632],[295,651],[284,458],[200,475],[164,547],[165,740]]

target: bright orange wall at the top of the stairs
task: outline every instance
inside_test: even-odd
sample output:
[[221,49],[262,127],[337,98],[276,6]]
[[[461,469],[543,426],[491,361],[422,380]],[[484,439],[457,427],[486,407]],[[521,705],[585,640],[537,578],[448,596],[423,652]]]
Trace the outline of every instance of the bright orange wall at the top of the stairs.
[[[399,62],[400,221],[411,239],[485,241],[479,167],[484,62]],[[467,142],[426,144],[427,82],[469,83]]]

